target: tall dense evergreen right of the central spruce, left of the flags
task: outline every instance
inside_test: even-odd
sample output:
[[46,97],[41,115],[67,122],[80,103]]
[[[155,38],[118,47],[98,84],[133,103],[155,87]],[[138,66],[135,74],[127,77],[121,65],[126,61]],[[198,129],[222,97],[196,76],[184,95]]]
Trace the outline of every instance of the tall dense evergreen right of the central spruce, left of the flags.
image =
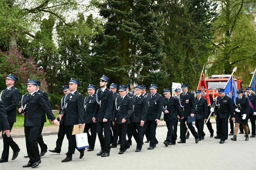
[[216,4],[208,0],[161,2],[165,18],[163,70],[168,73],[166,82],[183,82],[195,87],[202,68],[200,61],[210,50],[205,44],[212,35],[210,28]]

